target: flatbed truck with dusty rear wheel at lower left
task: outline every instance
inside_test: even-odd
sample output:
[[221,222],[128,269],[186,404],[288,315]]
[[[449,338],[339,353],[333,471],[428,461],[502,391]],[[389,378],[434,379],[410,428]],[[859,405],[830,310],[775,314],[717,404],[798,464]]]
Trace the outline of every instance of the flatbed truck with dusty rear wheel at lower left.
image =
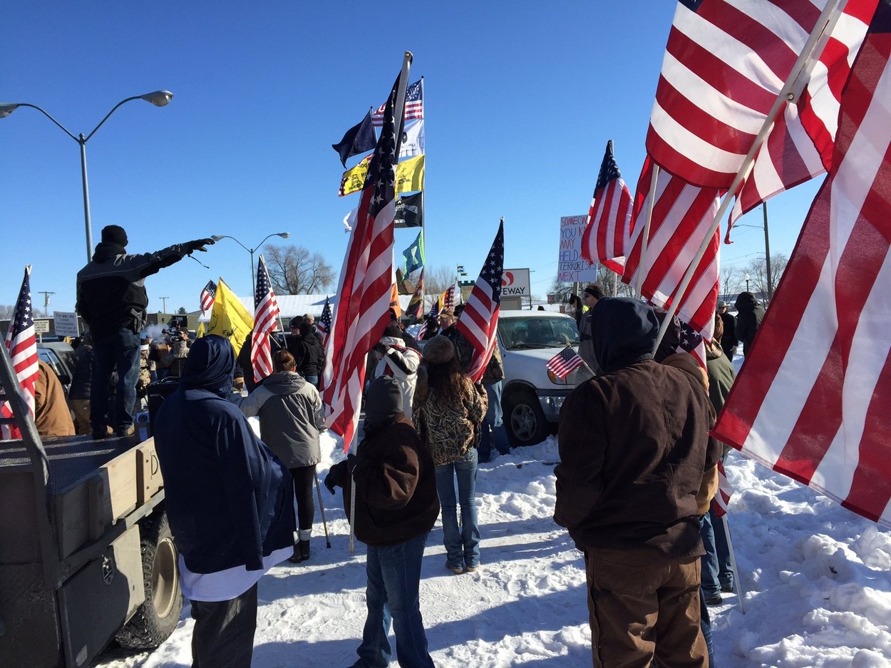
[[83,668],[111,639],[156,648],[183,608],[154,441],[41,439],[6,347],[20,440],[0,441],[0,666]]

